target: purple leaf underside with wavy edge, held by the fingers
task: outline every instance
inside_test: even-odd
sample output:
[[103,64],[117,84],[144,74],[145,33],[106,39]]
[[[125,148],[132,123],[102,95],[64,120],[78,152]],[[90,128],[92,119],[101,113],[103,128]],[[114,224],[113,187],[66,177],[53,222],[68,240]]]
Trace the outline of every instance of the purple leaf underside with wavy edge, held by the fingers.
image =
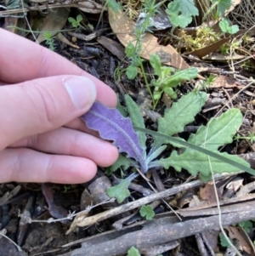
[[119,152],[126,152],[140,163],[142,171],[147,171],[144,152],[139,144],[139,136],[133,130],[130,118],[122,117],[116,109],[95,102],[91,109],[82,116],[88,128],[96,130],[102,139],[113,141]]

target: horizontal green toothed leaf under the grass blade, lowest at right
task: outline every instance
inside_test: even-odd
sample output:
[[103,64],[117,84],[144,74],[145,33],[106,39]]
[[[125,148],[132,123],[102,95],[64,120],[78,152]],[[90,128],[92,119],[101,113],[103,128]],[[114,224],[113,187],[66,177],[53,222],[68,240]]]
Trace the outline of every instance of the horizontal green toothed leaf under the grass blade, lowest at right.
[[[246,167],[249,166],[249,164],[245,160],[241,159],[238,156],[229,155],[227,153],[219,153],[218,151],[214,151],[214,153],[217,153],[218,155],[224,156],[235,162],[241,163]],[[172,166],[178,172],[180,172],[181,169],[184,168],[188,170],[191,175],[196,175],[198,174],[198,172],[201,172],[201,174],[203,174],[204,176],[209,176],[211,174],[210,162],[212,166],[212,172],[214,174],[234,173],[241,171],[240,168],[233,167],[228,163],[222,162],[216,158],[210,157],[209,162],[208,157],[209,156],[201,152],[187,149],[181,155],[178,155],[177,151],[173,151],[171,156],[156,161],[156,164],[158,166],[163,166],[164,168],[169,168],[170,166]]]

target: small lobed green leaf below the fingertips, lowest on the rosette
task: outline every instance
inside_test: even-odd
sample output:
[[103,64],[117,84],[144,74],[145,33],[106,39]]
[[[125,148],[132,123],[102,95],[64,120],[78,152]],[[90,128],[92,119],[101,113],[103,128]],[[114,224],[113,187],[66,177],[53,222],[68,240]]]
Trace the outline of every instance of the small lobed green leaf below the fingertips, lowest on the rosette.
[[107,189],[106,194],[110,197],[116,197],[118,203],[122,203],[130,195],[128,185],[131,183],[128,179],[122,179],[121,183]]

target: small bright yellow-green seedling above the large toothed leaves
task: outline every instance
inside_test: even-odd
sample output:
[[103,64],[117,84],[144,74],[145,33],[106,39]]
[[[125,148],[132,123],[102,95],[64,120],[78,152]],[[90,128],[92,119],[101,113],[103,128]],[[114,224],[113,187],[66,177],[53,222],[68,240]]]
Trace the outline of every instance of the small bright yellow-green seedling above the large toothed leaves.
[[153,67],[158,79],[151,80],[151,85],[155,87],[154,100],[161,99],[161,94],[165,93],[170,98],[177,99],[177,94],[173,91],[181,82],[197,77],[197,69],[191,67],[186,70],[175,71],[172,67],[161,66],[160,57],[156,54],[150,55],[150,65]]

